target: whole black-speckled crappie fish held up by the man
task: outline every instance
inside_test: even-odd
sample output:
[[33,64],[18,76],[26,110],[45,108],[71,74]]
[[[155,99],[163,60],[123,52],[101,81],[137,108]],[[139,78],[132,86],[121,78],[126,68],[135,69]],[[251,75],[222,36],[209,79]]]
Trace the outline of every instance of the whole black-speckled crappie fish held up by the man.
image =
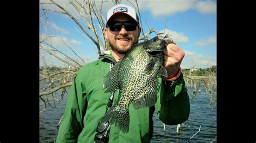
[[167,78],[163,66],[166,39],[154,37],[132,46],[103,79],[105,92],[119,89],[118,101],[102,121],[115,123],[119,130],[129,132],[129,106],[139,110],[157,102],[157,75]]

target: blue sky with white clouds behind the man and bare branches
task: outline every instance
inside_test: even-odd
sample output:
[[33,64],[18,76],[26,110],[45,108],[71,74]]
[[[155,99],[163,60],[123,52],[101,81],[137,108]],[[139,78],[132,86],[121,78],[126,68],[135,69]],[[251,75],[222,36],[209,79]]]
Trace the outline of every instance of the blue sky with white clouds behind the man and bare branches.
[[[55,0],[57,3],[68,9],[73,15],[78,16],[69,1]],[[50,3],[50,1],[41,0],[44,9],[61,11]],[[133,2],[134,1],[130,1]],[[123,4],[132,6],[127,1],[121,1]],[[107,10],[114,6],[112,1],[103,4],[103,16],[106,19]],[[208,68],[217,65],[217,2],[216,1],[198,1],[198,0],[160,0],[146,1],[138,0],[142,26],[145,33],[150,28],[158,32],[169,32],[171,38],[185,52],[181,63],[181,69],[189,68]],[[42,8],[39,6],[40,9]],[[40,10],[40,14],[43,12]],[[80,56],[85,62],[91,62],[98,59],[96,46],[85,36],[79,26],[68,16],[59,12],[47,13],[48,19],[46,26],[43,25],[39,17],[40,39],[48,35],[55,35],[49,38],[51,43],[59,51],[77,58]],[[95,18],[95,17],[93,17]],[[79,22],[82,22],[80,20]],[[95,23],[97,24],[97,23]],[[45,28],[46,27],[46,28]],[[46,30],[47,29],[47,32]],[[142,35],[142,34],[141,34]],[[156,34],[149,35],[153,38]],[[72,47],[73,53],[63,41]],[[103,50],[102,50],[103,52]],[[39,66],[43,66],[42,57],[48,65],[62,66],[63,63],[58,59],[46,55],[40,50]],[[77,58],[78,59],[78,58]]]

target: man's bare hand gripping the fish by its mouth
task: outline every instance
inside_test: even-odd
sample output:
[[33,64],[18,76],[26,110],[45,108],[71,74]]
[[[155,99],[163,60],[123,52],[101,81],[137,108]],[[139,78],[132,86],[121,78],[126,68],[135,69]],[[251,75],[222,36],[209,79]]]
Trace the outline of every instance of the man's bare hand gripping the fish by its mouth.
[[164,67],[167,70],[167,78],[176,76],[179,72],[179,66],[185,56],[185,52],[174,44],[166,44],[164,51]]

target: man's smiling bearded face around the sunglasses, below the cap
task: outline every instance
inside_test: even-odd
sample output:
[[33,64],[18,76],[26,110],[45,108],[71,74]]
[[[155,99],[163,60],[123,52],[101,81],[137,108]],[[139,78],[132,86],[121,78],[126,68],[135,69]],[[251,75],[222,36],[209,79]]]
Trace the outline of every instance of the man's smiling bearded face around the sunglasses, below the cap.
[[[111,19],[111,21],[117,22],[126,22],[130,20],[132,20],[132,18],[125,15],[119,15]],[[109,42],[112,51],[120,54],[126,54],[133,44],[138,43],[140,28],[136,26],[136,30],[126,31],[123,25],[119,31],[111,31],[110,28],[107,27],[104,29],[104,32],[106,40]]]

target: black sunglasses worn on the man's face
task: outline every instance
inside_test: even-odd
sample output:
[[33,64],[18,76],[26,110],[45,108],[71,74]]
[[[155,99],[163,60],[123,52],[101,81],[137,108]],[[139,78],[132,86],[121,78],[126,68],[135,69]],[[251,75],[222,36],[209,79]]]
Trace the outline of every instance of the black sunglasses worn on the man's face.
[[123,25],[126,31],[134,31],[136,30],[136,27],[139,26],[138,23],[135,23],[133,21],[127,21],[127,22],[112,21],[112,22],[109,22],[109,24],[107,24],[106,27],[109,27],[111,31],[119,31],[121,30]]

